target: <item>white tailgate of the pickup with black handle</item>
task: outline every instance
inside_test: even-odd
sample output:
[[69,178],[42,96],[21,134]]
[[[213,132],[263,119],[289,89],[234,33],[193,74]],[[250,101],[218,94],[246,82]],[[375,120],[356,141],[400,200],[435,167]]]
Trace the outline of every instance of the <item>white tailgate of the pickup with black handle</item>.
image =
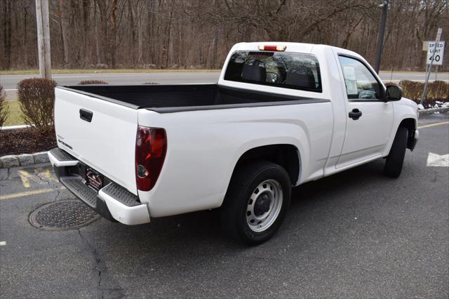
[[55,88],[58,146],[136,195],[137,127],[138,109]]

